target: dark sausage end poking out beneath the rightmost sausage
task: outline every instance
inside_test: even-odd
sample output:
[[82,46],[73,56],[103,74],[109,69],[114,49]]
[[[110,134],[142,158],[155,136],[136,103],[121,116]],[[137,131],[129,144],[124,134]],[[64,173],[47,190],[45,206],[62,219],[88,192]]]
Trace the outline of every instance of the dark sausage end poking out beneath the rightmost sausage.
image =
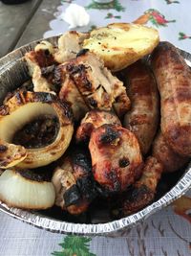
[[165,173],[176,172],[189,161],[189,157],[180,156],[171,149],[160,131],[154,140],[152,155],[162,164]]

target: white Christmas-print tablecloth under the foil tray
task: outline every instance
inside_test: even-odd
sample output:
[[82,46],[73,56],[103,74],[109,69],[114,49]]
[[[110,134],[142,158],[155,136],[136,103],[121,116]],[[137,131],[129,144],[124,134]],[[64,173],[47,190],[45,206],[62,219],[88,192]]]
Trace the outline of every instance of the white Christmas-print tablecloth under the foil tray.
[[[191,53],[190,0],[114,0],[99,5],[91,0],[61,1],[44,37],[68,30],[60,14],[71,4],[84,6],[90,31],[113,22],[146,24],[159,29],[169,40]],[[187,256],[191,255],[191,192],[139,224],[122,238],[83,238],[40,230],[0,213],[0,255],[57,256]]]

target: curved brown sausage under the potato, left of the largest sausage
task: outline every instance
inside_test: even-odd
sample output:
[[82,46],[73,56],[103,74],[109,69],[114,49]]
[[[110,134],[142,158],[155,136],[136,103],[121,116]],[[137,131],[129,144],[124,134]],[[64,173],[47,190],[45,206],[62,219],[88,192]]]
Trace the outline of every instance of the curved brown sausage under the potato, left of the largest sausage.
[[123,125],[138,138],[140,151],[146,154],[159,124],[159,92],[149,67],[141,60],[123,71],[131,109],[124,116]]

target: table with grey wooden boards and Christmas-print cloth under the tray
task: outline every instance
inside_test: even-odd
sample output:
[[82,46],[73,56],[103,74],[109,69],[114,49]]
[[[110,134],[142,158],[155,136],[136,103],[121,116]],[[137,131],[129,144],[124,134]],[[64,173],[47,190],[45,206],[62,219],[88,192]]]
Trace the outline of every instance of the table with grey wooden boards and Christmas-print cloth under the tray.
[[[17,6],[0,2],[0,57],[32,40],[68,30],[68,24],[60,20],[59,14],[72,2],[87,7],[91,15],[90,24],[79,31],[112,22],[138,20],[158,28],[162,40],[170,40],[191,52],[191,29],[187,26],[191,24],[191,3],[187,0],[115,0],[106,10],[97,10],[98,6],[91,0],[31,0]],[[191,192],[124,233],[124,237],[115,239],[53,234],[0,212],[0,256],[64,256],[67,246],[76,242],[80,245],[73,254],[76,249],[82,251],[77,256],[191,255]]]

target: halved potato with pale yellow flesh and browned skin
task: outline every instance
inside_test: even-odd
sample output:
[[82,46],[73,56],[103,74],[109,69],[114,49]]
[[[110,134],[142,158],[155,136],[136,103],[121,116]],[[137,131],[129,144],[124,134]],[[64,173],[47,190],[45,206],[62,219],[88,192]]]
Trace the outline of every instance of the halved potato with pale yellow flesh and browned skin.
[[96,53],[105,66],[117,71],[150,54],[159,43],[159,33],[138,24],[113,23],[91,32],[83,48]]

